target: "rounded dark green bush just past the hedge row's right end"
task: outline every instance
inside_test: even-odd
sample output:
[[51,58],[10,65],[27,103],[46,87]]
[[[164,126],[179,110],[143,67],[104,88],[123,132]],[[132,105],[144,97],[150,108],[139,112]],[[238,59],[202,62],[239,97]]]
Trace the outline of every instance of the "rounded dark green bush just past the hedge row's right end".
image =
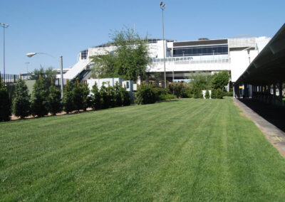
[[152,85],[140,85],[135,95],[138,105],[152,104],[156,102],[155,90]]

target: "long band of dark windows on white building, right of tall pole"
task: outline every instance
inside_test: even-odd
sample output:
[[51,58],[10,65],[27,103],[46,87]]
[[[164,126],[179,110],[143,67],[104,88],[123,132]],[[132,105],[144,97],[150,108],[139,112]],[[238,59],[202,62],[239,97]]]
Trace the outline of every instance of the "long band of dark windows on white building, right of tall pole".
[[173,57],[194,55],[222,55],[228,54],[228,46],[192,46],[185,48],[173,48]]

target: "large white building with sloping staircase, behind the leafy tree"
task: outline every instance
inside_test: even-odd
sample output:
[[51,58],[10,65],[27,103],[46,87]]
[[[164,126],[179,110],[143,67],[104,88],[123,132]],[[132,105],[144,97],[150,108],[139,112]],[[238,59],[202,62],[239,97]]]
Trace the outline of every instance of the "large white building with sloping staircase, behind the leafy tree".
[[[165,61],[167,80],[188,78],[190,73],[215,73],[228,70],[234,83],[266,46],[271,38],[224,38],[198,41],[165,40]],[[148,47],[152,63],[147,67],[150,73],[164,73],[163,41],[149,39]],[[87,80],[92,66],[90,56],[115,51],[115,46],[103,44],[81,51],[78,63],[64,75],[65,79],[79,77]]]

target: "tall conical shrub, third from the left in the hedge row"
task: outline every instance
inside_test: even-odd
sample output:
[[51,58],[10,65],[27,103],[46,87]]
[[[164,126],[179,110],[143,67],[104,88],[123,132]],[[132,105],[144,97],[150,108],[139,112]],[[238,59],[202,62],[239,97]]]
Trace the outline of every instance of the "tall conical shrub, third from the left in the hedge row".
[[48,89],[46,80],[40,78],[33,85],[31,99],[31,114],[33,116],[43,117],[48,115]]

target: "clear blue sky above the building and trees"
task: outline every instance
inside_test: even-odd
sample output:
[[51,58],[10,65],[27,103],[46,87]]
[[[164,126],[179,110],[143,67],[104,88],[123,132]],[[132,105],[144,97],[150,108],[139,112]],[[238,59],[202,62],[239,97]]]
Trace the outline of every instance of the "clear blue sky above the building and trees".
[[[272,37],[284,24],[285,1],[165,0],[165,38],[233,36]],[[133,27],[145,36],[162,38],[160,1],[2,0],[0,22],[6,29],[6,73],[59,64],[47,55],[27,58],[29,52],[63,55],[63,68],[76,64],[81,50],[110,40],[112,30]],[[3,28],[0,29],[0,70],[3,73]]]

